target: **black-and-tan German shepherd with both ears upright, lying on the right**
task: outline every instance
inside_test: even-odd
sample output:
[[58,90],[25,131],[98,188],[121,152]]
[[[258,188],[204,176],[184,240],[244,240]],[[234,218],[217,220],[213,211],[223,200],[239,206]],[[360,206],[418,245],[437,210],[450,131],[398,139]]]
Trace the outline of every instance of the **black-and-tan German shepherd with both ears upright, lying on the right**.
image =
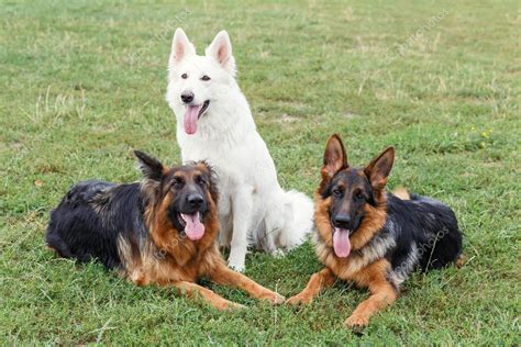
[[391,304],[400,284],[417,267],[442,268],[462,253],[462,234],[454,212],[443,203],[385,186],[395,160],[392,147],[365,168],[347,164],[339,135],[330,137],[317,191],[317,255],[324,269],[289,304],[309,303],[335,278],[368,288],[370,295],[345,321],[365,326]]

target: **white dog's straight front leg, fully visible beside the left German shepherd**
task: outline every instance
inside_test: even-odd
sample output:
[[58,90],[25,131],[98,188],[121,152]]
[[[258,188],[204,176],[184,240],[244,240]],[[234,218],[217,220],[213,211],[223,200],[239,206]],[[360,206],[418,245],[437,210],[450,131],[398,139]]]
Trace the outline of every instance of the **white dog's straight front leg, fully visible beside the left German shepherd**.
[[247,235],[252,224],[253,199],[252,190],[246,188],[237,188],[236,193],[232,198],[233,213],[233,235],[228,258],[229,266],[236,271],[244,271]]

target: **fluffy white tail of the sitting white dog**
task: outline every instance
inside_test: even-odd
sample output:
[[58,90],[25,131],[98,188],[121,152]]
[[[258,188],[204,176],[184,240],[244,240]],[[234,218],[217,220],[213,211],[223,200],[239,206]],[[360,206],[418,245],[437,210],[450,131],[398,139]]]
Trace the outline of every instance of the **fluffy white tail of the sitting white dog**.
[[289,250],[300,246],[313,228],[314,205],[304,193],[296,190],[284,192],[282,200],[285,216],[278,244]]

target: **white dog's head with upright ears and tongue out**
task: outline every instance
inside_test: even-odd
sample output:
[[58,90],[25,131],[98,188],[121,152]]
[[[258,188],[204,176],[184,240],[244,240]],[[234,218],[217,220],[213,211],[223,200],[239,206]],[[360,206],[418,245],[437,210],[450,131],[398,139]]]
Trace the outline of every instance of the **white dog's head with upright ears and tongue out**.
[[236,88],[235,59],[225,31],[219,32],[206,49],[196,54],[182,29],[177,29],[168,60],[166,100],[189,135],[197,132],[199,119],[211,113],[219,100]]

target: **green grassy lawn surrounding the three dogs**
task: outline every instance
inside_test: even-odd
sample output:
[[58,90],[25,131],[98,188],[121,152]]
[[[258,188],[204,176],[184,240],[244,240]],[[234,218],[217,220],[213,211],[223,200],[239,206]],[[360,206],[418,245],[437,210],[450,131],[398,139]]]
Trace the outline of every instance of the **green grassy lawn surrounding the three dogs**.
[[[520,345],[517,1],[11,0],[0,18],[1,345]],[[354,164],[393,145],[389,188],[450,204],[466,265],[415,273],[356,335],[342,323],[367,292],[348,283],[300,311],[206,283],[248,306],[221,313],[54,257],[44,247],[48,212],[70,184],[138,179],[133,148],[179,160],[164,101],[177,26],[198,52],[229,31],[285,188],[313,193],[333,132]],[[319,268],[310,243],[282,259],[247,258],[247,275],[286,296]]]

